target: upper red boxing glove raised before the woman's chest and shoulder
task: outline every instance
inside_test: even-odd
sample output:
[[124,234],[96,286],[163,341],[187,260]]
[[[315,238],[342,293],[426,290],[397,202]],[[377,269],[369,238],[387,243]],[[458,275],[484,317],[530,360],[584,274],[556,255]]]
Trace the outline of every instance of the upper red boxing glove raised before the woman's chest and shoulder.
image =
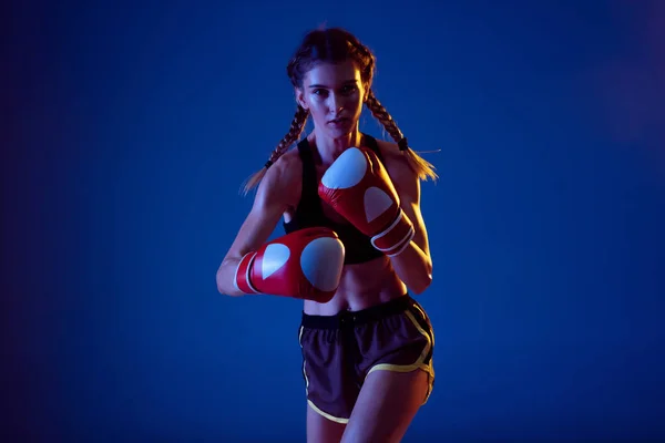
[[321,177],[318,194],[389,257],[405,250],[416,234],[388,172],[371,150],[349,147],[341,153]]

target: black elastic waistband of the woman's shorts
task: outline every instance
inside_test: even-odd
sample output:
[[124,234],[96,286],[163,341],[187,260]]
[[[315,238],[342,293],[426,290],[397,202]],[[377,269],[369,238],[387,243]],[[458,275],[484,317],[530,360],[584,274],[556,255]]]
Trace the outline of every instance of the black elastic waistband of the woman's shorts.
[[313,329],[339,329],[344,324],[362,324],[405,312],[416,303],[411,296],[403,295],[381,305],[359,311],[340,311],[335,316],[311,316],[303,312],[301,326]]

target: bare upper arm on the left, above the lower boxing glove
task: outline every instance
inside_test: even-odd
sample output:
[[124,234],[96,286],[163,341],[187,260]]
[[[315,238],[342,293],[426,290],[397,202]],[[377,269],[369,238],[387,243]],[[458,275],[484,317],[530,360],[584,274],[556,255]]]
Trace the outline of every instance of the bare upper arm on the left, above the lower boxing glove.
[[239,259],[266,243],[294,196],[293,162],[279,158],[258,184],[249,214],[241,225],[226,259]]

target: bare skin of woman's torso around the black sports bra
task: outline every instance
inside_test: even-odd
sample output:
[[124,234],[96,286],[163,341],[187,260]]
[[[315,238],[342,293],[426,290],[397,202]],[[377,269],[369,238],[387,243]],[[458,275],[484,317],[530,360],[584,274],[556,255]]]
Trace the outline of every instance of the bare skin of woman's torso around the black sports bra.
[[[379,142],[379,146],[381,142]],[[381,150],[381,153],[383,151]],[[297,150],[290,150],[283,155],[289,168],[303,171],[303,162]],[[390,172],[390,158],[383,155],[386,169]],[[317,182],[325,174],[327,166],[315,163]],[[303,174],[289,174],[294,182],[293,193],[289,193],[288,209],[284,213],[284,222],[288,223],[294,217],[300,195],[303,192]],[[324,215],[338,224],[348,224],[335,209],[321,202]],[[305,300],[304,311],[308,315],[331,316],[341,310],[357,311],[370,306],[389,301],[403,296],[407,292],[406,285],[397,277],[392,269],[390,259],[386,256],[372,258],[369,261],[345,265],[337,292],[327,303]]]

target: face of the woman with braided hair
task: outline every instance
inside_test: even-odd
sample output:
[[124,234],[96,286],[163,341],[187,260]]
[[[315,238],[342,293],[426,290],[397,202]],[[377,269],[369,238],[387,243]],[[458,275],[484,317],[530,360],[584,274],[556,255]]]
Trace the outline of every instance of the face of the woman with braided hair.
[[315,65],[296,89],[296,100],[309,110],[317,131],[337,138],[357,127],[366,89],[360,71],[348,60]]

